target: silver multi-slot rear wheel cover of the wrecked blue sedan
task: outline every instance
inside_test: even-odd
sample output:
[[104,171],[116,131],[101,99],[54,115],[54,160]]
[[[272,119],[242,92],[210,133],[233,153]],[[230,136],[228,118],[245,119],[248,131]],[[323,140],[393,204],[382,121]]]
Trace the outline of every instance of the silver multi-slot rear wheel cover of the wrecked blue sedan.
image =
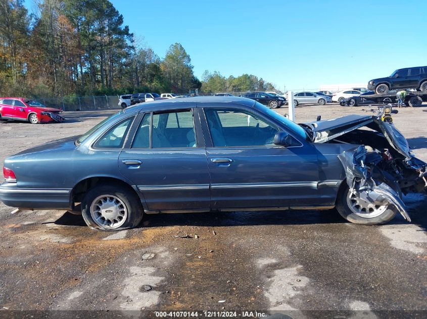
[[127,219],[127,208],[123,201],[113,195],[101,195],[90,205],[90,216],[104,229],[122,226]]

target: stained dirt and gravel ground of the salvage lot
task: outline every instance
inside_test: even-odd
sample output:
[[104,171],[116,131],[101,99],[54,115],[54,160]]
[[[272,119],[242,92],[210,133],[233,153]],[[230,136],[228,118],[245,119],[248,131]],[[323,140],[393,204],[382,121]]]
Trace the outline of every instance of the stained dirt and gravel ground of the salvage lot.
[[[369,108],[304,105],[296,121],[372,114]],[[425,112],[427,105],[401,108],[393,118],[427,161]],[[64,123],[0,122],[0,161],[82,134],[112,113],[66,112]],[[11,310],[99,310],[79,317],[159,317],[156,310],[427,317],[427,198],[404,201],[411,223],[396,216],[382,226],[355,225],[335,210],[200,213],[148,215],[138,228],[120,232],[90,230],[81,216],[63,211],[11,215],[0,204],[0,317],[24,313]]]

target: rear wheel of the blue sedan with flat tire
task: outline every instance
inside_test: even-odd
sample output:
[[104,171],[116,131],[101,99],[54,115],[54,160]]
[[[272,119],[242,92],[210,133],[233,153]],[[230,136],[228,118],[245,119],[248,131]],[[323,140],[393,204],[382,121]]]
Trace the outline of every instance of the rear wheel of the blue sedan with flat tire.
[[87,226],[97,230],[133,228],[143,217],[138,196],[123,186],[99,185],[90,189],[81,202]]

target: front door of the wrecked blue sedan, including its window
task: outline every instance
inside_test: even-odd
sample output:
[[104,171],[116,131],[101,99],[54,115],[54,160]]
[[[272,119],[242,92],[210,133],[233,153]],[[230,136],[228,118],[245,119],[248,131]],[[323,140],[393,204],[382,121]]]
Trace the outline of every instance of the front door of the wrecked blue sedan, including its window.
[[279,127],[238,107],[204,108],[213,209],[319,205],[317,155],[292,138],[274,145]]

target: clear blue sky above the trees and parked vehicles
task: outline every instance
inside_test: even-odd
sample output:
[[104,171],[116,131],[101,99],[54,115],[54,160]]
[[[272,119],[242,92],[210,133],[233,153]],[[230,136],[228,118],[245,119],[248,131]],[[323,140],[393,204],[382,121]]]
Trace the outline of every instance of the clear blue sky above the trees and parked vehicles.
[[248,73],[281,90],[316,89],[427,65],[425,0],[112,3],[160,57],[180,42],[199,79]]

